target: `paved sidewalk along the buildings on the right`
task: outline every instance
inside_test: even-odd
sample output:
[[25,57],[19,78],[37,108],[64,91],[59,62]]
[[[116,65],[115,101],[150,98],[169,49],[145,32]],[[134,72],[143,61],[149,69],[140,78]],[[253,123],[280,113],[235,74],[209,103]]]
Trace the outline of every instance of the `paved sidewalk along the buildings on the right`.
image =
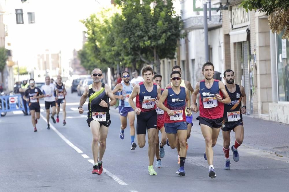
[[[192,132],[201,133],[199,121],[196,120],[199,113],[193,114]],[[260,151],[274,153],[289,158],[289,125],[275,121],[266,121],[243,115],[244,141],[242,146],[258,149]],[[222,137],[222,131],[218,138]],[[193,133],[192,133],[193,134]],[[235,134],[231,132],[231,142],[235,141]],[[219,141],[217,141],[219,142]]]

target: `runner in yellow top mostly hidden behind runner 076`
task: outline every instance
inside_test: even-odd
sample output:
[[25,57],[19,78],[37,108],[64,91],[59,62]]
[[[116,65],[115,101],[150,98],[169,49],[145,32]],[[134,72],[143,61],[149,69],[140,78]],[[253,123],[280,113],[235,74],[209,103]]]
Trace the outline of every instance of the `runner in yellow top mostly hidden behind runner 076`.
[[[172,72],[173,72],[173,71],[178,71],[178,72],[181,74],[181,67],[175,65],[175,66],[173,66],[173,68],[172,68]],[[172,87],[172,86],[173,86],[173,83],[169,83],[168,85],[166,85],[166,87]],[[190,91],[190,95],[192,95],[193,92],[194,92],[194,89],[192,88],[191,83],[190,83],[189,81],[187,81],[187,80],[181,79],[181,87],[187,88],[187,89]],[[187,140],[188,140],[188,138],[190,138],[190,136],[191,136],[191,130],[192,130],[192,126],[193,126],[193,123],[192,123],[193,115],[188,115],[188,111],[189,111],[189,110],[190,110],[190,109],[187,109],[187,110],[185,111],[185,113],[186,113],[186,122],[187,122],[187,127],[188,127]],[[167,145],[169,146],[168,140],[167,140]],[[186,141],[186,145],[187,145],[187,150],[188,150],[189,146],[188,146],[188,142],[187,142],[187,141]],[[177,135],[178,164],[180,164],[180,162],[181,162],[181,161],[180,161],[180,155],[179,155],[180,149],[181,149],[181,146],[179,145],[179,138],[178,138],[178,135]]]

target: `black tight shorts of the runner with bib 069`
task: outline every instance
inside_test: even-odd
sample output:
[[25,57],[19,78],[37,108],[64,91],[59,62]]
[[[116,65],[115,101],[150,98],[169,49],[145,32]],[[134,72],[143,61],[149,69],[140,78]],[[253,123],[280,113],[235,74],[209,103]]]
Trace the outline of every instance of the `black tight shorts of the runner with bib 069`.
[[140,112],[136,115],[136,134],[146,134],[147,129],[157,128],[157,112],[155,110]]

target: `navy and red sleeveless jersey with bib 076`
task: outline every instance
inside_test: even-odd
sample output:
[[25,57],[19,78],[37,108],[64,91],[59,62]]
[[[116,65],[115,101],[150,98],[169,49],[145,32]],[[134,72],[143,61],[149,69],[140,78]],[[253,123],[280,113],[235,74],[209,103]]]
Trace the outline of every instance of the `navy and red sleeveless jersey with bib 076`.
[[168,87],[168,96],[165,100],[165,106],[174,111],[175,115],[168,116],[168,113],[164,112],[165,123],[175,123],[186,121],[186,88],[181,87],[179,94],[176,94],[171,87]]

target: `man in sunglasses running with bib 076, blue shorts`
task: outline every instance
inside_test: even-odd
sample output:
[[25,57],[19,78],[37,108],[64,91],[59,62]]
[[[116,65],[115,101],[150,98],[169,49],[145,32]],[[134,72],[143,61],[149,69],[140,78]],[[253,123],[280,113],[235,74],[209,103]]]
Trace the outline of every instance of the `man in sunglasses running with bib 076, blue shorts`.
[[[164,126],[172,149],[177,147],[176,135],[179,137],[181,162],[180,168],[176,173],[185,176],[184,164],[187,155],[186,139],[188,136],[185,111],[190,106],[190,94],[187,88],[180,86],[181,73],[178,71],[171,73],[171,82],[173,86],[164,90],[158,106],[165,111]],[[164,106],[163,102],[165,102],[166,106]],[[188,110],[188,115],[191,115],[190,110]]]

